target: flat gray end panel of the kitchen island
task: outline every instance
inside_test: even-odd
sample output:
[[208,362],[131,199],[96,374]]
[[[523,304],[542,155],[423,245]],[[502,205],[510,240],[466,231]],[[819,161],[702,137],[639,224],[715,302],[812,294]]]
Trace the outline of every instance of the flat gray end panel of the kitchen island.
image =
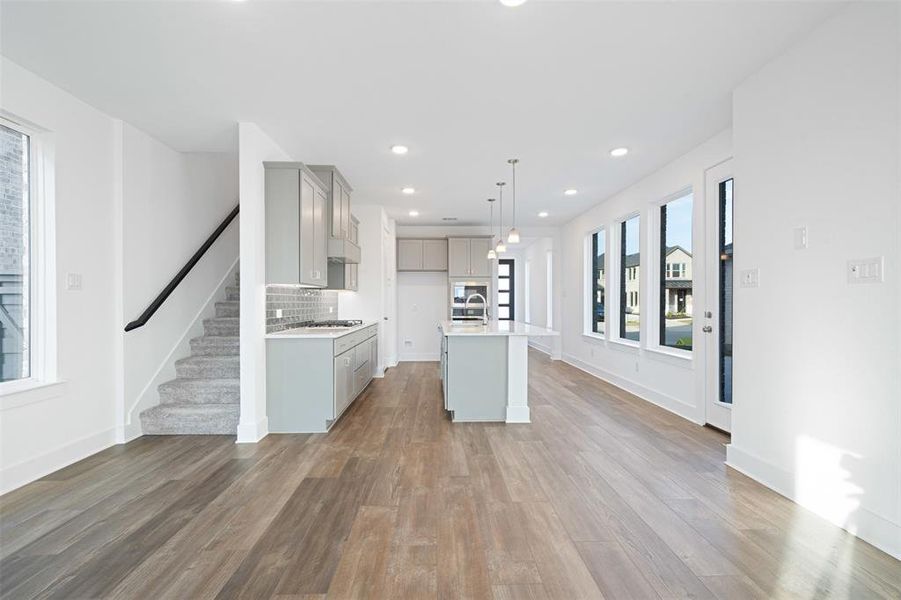
[[448,410],[454,421],[506,421],[507,337],[447,337]]

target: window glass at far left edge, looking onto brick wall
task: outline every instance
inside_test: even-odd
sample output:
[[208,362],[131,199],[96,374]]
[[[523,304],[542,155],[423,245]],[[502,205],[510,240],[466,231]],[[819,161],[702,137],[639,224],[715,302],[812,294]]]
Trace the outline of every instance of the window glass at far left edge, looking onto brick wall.
[[0,382],[31,362],[31,138],[0,124]]

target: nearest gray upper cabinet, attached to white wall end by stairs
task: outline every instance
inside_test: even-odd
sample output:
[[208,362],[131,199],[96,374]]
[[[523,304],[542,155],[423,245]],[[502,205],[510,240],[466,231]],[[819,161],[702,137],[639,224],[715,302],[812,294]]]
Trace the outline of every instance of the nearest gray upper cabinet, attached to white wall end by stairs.
[[322,182],[298,162],[265,162],[266,283],[328,285]]

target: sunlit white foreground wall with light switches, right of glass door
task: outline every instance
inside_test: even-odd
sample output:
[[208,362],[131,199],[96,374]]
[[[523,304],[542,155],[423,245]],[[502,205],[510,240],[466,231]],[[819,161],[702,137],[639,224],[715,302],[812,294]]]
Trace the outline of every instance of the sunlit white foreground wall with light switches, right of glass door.
[[[856,5],[734,95],[729,463],[901,556],[899,5]],[[810,246],[794,250],[807,225]],[[885,283],[846,261],[885,258]]]

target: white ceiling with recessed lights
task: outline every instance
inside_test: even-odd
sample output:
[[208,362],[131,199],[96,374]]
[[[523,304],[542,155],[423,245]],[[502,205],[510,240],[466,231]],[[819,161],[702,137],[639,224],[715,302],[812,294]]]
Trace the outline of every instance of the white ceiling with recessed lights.
[[179,150],[233,150],[256,122],[401,223],[486,222],[516,156],[519,222],[554,225],[728,127],[736,84],[836,8],[3,2],[0,48]]

